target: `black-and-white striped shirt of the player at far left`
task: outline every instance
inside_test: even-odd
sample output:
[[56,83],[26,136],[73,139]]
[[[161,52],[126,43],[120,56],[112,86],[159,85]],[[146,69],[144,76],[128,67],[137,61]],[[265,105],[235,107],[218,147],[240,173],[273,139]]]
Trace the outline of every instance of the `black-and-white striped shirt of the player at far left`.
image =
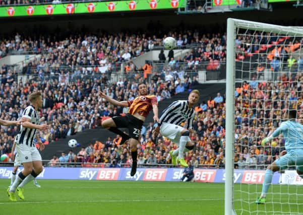
[[[30,122],[33,124],[40,123],[40,117],[38,112],[35,110],[34,106],[27,106],[22,114],[22,117],[30,119]],[[36,137],[37,129],[35,128],[26,128],[21,125],[20,133],[17,135],[16,142],[18,144],[24,144],[30,147],[34,147],[34,139]]]

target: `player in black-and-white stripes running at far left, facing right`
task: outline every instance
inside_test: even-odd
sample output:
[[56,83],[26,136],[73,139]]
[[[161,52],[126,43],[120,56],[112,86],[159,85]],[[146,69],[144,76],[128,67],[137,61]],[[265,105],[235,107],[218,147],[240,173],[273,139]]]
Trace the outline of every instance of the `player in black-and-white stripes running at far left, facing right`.
[[24,122],[22,122],[20,133],[16,139],[18,158],[23,164],[24,169],[18,174],[11,188],[8,189],[11,201],[16,201],[16,190],[18,196],[23,200],[23,186],[36,178],[43,170],[41,155],[34,144],[34,138],[36,137],[39,149],[42,151],[44,145],[36,132],[37,129],[48,131],[49,127],[46,124],[40,125],[39,121],[37,110],[42,107],[41,93],[30,94],[28,100],[30,101],[30,105],[23,111],[22,120]]

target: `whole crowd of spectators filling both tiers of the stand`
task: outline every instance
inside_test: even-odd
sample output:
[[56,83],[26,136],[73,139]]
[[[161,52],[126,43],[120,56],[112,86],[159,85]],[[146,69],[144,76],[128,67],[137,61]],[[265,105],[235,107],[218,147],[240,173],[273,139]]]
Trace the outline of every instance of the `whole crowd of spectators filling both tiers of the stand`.
[[[149,47],[150,41],[160,45],[162,39],[156,38],[146,38],[144,35],[128,36],[126,34],[123,36],[103,35],[99,38],[96,36],[75,36],[65,40],[51,41],[50,38],[24,40],[17,34],[15,40],[3,41],[2,50],[6,53],[9,53],[7,49],[10,48],[19,50],[17,47],[21,47],[20,44],[24,43],[31,50],[34,50],[34,47],[37,50],[40,48],[40,51],[41,48],[45,49],[47,54],[42,55],[40,60],[35,58],[29,61],[29,64],[23,67],[26,69],[22,69],[24,74],[36,74],[35,80],[24,82],[19,80],[19,84],[17,84],[18,71],[7,65],[2,65],[0,70],[2,75],[0,86],[1,118],[7,120],[19,118],[28,105],[26,96],[31,92],[40,90],[43,93],[41,123],[48,123],[51,127],[49,133],[42,134],[46,143],[51,144],[54,140],[82,132],[83,129],[100,127],[103,119],[125,114],[128,112],[128,108],[109,105],[100,99],[98,92],[102,90],[117,100],[132,100],[138,93],[136,83],[146,81],[147,77],[144,73],[137,73],[134,75],[134,79],[120,78],[117,82],[109,84],[108,70],[98,73],[100,70],[88,70],[87,67],[80,70],[80,66],[96,65],[98,67],[98,65],[106,63],[115,64],[115,62],[119,62],[119,60],[115,61],[117,56],[121,56],[120,59],[124,58],[121,55],[123,51],[125,54],[128,51],[140,50],[138,54],[141,54],[142,51],[148,50],[145,50],[144,46]],[[246,38],[238,38],[237,40],[240,41],[238,48],[241,48],[241,44],[246,42]],[[196,65],[197,61],[200,62],[204,59],[206,61],[225,60],[225,34],[206,34],[200,37],[199,32],[187,31],[184,35],[179,35],[177,45],[182,46],[195,42],[198,45],[197,48],[192,49],[183,58],[177,60],[174,60],[173,55],[166,59],[165,55],[161,56],[163,52],[160,53],[159,61],[167,62],[168,66],[158,70],[157,79],[152,79],[147,83],[149,93],[156,95],[158,101],[170,98],[177,93],[187,92],[198,84],[196,76],[189,78],[186,74],[175,73],[176,68],[182,63],[190,68],[192,65]],[[245,49],[247,46],[243,48]],[[218,55],[218,53],[220,54]],[[130,55],[132,56],[132,54]],[[137,56],[137,54],[133,56],[135,55]],[[116,65],[112,67],[116,67]],[[75,69],[67,71],[65,66]],[[126,70],[129,75],[133,74],[134,66],[132,68]],[[257,81],[258,71],[252,73],[254,75],[252,81],[242,83],[235,90],[236,141],[234,160],[236,168],[264,168],[265,164],[276,159],[283,149],[283,140],[274,140],[271,145],[265,147],[260,146],[260,140],[279,125],[281,115],[286,108],[296,103],[301,106],[303,101],[303,94],[300,93],[300,82],[303,80],[303,76],[300,73],[283,73],[278,77],[280,82],[262,82]],[[58,74],[58,76],[49,78],[52,73]],[[93,75],[88,76],[89,74]],[[186,160],[192,161],[195,167],[202,165],[221,168],[225,162],[224,97],[218,93],[217,97],[210,98],[200,104],[196,111],[194,122],[196,132],[191,134],[191,139],[195,141],[196,147],[193,152],[186,154]],[[176,146],[161,135],[155,137],[152,132],[154,127],[155,124],[150,122],[148,127],[142,128],[141,145],[138,146],[138,164],[140,165],[169,164],[171,162],[168,152]],[[18,129],[18,127],[2,127],[0,130],[1,154],[10,153]],[[129,149],[128,145],[119,141],[120,138],[117,136],[103,143],[92,143],[81,151],[75,152],[76,154],[70,152],[60,158],[53,158],[50,165],[54,165],[57,161],[108,163],[108,165],[129,164],[132,161],[127,150]]]

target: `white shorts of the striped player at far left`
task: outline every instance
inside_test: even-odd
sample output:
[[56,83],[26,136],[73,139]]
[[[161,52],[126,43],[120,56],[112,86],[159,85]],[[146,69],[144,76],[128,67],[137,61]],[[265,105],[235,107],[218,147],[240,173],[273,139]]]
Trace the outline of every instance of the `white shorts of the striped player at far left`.
[[19,161],[23,163],[32,161],[42,161],[41,155],[36,147],[30,147],[24,144],[16,145]]

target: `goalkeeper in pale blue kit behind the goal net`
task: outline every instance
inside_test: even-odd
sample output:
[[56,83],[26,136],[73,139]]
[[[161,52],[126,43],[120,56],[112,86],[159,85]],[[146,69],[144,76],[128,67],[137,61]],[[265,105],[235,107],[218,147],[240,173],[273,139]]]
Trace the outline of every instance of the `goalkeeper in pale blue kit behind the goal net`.
[[[285,114],[287,114],[287,111]],[[265,145],[266,142],[271,141],[282,133],[285,138],[286,151],[282,151],[282,157],[278,158],[267,167],[263,181],[262,193],[260,198],[256,201],[257,204],[266,202],[266,193],[268,192],[274,172],[284,170],[289,166],[296,166],[297,174],[303,178],[303,125],[301,124],[303,123],[303,112],[299,115],[299,122],[295,121],[296,114],[296,110],[289,110],[289,120],[282,122],[280,127],[261,142],[262,145]]]

